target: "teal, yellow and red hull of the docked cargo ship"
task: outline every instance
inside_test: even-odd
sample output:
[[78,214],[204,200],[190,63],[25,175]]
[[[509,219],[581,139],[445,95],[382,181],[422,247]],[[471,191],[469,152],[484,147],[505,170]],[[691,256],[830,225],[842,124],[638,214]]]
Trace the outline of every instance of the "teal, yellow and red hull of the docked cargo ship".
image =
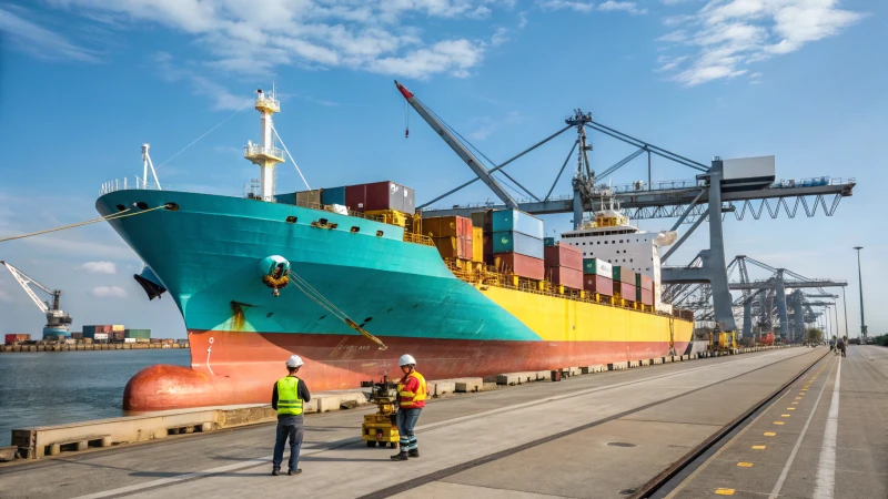
[[[254,200],[119,191],[97,202],[169,291],[191,342],[190,368],[153,366],[123,407],[152,411],[265,403],[292,354],[314,390],[356,388],[397,373],[403,354],[428,379],[549,370],[682,353],[693,325],[675,317],[456,278],[433,246],[360,217]],[[143,208],[144,210],[144,208]],[[263,283],[268,257],[291,269],[387,349],[291,284]]]

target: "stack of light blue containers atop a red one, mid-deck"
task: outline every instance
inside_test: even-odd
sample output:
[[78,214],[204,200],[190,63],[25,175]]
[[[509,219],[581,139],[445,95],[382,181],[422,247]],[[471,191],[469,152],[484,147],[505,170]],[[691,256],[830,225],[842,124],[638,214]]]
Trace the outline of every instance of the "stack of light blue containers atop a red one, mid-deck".
[[542,220],[517,210],[491,212],[490,241],[494,265],[522,277],[545,278]]

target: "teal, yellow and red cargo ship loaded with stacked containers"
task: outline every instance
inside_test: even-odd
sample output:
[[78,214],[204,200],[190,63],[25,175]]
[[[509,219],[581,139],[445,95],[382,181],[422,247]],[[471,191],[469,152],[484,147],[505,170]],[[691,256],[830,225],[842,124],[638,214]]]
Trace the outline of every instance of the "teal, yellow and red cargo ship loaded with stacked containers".
[[[647,359],[687,346],[693,317],[602,285],[587,291],[574,277],[585,275],[575,268],[578,249],[566,238],[544,242],[532,215],[487,212],[478,227],[423,220],[413,191],[392,182],[276,194],[274,165],[284,157],[271,120],[280,103],[259,91],[255,109],[262,140],[244,156],[260,167],[259,191],[160,190],[145,172],[139,189],[105,184],[97,201],[144,262],[135,278],[149,298],[175,301],[191,344],[191,367],[138,373],[124,410],[268,403],[292,354],[305,360],[300,377],[313,390],[335,390],[397,375],[405,353],[427,379],[446,379]],[[138,216],[113,216],[123,212]],[[521,231],[538,240],[522,243],[529,251],[504,235]],[[552,262],[526,255],[559,245]]]

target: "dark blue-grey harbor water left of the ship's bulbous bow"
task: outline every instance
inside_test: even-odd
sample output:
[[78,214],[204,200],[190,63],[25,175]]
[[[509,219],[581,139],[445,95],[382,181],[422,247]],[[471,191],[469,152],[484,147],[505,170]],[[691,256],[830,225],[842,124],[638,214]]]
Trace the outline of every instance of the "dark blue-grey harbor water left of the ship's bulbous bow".
[[0,354],[0,446],[12,428],[119,417],[135,373],[190,363],[188,348]]

